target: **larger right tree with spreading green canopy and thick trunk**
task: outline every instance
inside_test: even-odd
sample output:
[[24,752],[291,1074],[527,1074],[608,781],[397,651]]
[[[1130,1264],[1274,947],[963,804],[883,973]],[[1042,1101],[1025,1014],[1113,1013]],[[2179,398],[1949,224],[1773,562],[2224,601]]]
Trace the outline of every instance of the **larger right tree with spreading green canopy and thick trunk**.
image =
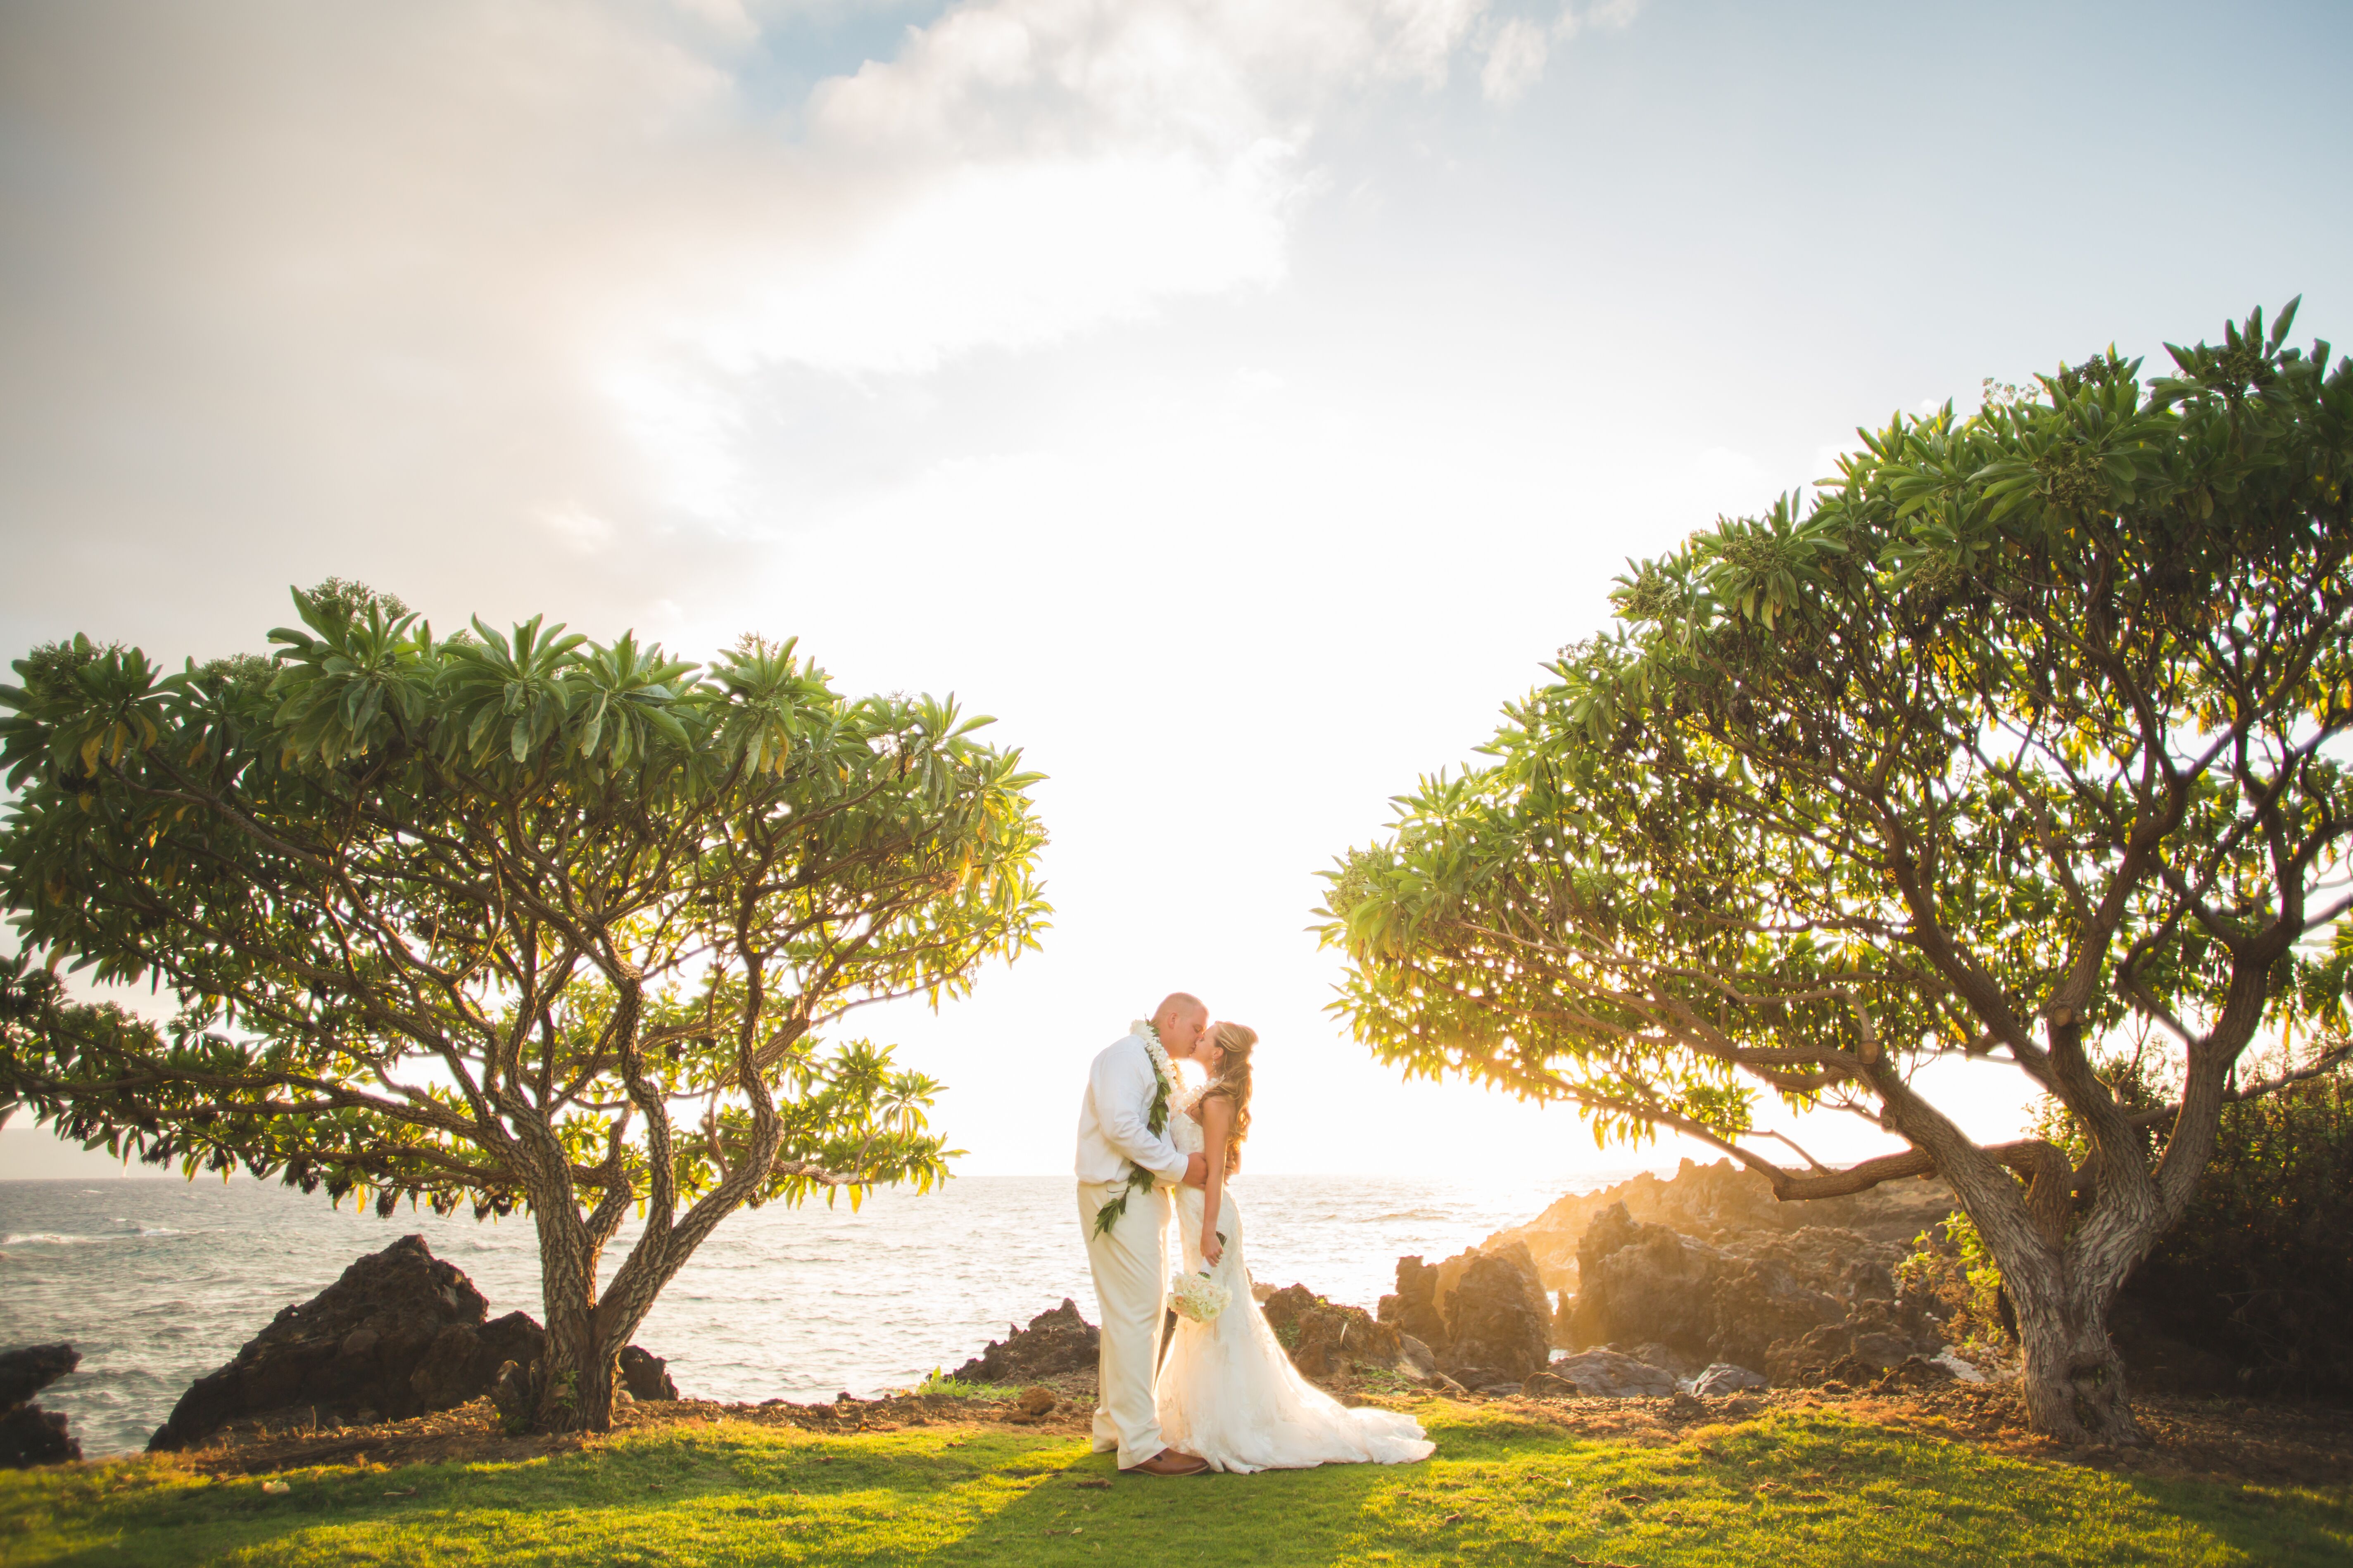
[[[1814,505],[1619,581],[1489,764],[1334,872],[1377,1056],[1673,1128],[1784,1199],[1934,1171],[2019,1316],[2033,1422],[2134,1441],[2106,1312],[2191,1204],[2238,1067],[2344,1053],[2353,371],[2294,306],[1864,433]],[[2144,1039],[2179,1100],[2094,1070]],[[1972,1140],[1920,1079],[2009,1067],[2087,1128]],[[1760,1095],[1911,1152],[1831,1171]],[[2158,1135],[2144,1140],[2144,1128]]]

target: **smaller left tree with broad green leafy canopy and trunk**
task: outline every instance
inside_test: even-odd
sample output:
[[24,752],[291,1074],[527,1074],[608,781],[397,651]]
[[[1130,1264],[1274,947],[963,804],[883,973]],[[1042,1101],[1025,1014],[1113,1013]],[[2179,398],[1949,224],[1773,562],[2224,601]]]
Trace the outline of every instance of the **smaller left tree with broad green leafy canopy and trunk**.
[[[696,668],[539,621],[435,637],[341,583],[296,604],[275,661],[75,639],[0,686],[0,1105],[191,1175],[529,1208],[539,1425],[605,1429],[727,1213],[946,1175],[936,1084],[819,1030],[1035,945],[1038,776],[791,642]],[[61,966],[179,1016],[73,1001]]]

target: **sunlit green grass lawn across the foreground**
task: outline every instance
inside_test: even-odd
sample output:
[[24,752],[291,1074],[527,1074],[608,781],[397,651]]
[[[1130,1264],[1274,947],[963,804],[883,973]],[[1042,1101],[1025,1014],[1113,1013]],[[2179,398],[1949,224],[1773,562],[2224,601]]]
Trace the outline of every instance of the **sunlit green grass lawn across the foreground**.
[[[520,1465],[202,1481],[0,1474],[0,1563],[1574,1563],[1769,1568],[2353,1561],[2353,1495],[2151,1481],[1777,1410],[1671,1448],[1431,1401],[1438,1458],[1111,1476],[1054,1436],[720,1422]],[[386,1495],[414,1488],[414,1495]]]

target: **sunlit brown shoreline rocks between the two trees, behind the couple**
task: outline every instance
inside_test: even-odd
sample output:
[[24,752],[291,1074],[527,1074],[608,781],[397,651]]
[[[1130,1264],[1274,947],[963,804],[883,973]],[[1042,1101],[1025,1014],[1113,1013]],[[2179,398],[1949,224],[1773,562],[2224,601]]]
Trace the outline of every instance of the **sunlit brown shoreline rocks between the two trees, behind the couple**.
[[[1732,1161],[1682,1161],[1666,1180],[1565,1197],[1454,1258],[1400,1258],[1377,1312],[1304,1284],[1254,1293],[1292,1363],[1327,1382],[1586,1399],[1977,1382],[1986,1371],[1951,1352],[1939,1302],[1897,1284],[1897,1262],[1948,1213],[1939,1180],[1779,1204]],[[1094,1347],[1066,1300],[953,1375],[1080,1371]]]

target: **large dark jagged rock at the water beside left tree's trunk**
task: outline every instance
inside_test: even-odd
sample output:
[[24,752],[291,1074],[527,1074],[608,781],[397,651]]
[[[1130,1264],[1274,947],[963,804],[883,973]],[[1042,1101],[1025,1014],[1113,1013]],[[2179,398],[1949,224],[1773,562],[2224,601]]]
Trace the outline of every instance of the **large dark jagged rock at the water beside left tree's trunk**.
[[[529,1368],[544,1345],[527,1312],[489,1319],[464,1272],[424,1237],[402,1237],[308,1302],[282,1307],[228,1366],[188,1385],[148,1450],[186,1448],[233,1420],[301,1413],[336,1425],[447,1410],[487,1394],[504,1363]],[[624,1352],[624,1378],[628,1363]]]

